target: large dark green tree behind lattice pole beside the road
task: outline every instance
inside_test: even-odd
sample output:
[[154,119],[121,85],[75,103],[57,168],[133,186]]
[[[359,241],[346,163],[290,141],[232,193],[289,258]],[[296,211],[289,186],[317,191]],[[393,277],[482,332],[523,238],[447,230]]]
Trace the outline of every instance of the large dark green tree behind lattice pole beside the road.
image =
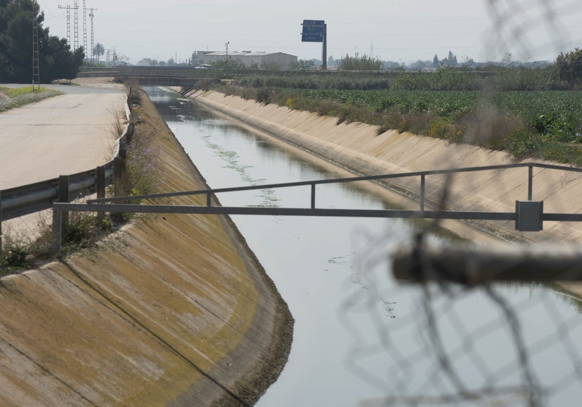
[[[74,78],[84,50],[70,52],[66,40],[51,37],[42,26],[44,13],[31,0],[0,0],[0,83],[30,83],[33,72],[33,18],[38,26],[40,81]],[[80,56],[80,59],[79,59]]]

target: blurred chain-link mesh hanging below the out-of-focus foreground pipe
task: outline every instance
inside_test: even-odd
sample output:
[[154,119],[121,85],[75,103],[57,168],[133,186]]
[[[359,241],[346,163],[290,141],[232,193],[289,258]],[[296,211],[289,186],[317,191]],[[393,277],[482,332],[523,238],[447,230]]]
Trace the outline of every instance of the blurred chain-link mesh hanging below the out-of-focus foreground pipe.
[[[359,239],[367,249],[354,273],[366,290],[351,294],[340,309],[353,337],[345,363],[384,394],[361,405],[578,405],[582,301],[568,291],[576,283],[452,282],[439,271],[442,265],[435,269],[430,249],[416,248],[420,261],[410,280],[395,284],[386,273],[392,262],[386,246],[393,236]],[[437,239],[428,240],[434,245]],[[411,241],[418,244],[426,242]],[[503,264],[491,266],[502,276]],[[568,270],[568,278],[581,269]],[[361,334],[366,324],[374,325],[373,338]]]

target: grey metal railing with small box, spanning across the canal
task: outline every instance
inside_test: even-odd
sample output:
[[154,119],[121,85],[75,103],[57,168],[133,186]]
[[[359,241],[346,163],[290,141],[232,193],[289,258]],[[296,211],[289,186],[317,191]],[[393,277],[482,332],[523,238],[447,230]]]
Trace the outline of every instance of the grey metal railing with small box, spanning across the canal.
[[[504,170],[524,167],[528,169],[527,201],[516,201],[514,212],[487,212],[482,210],[427,210],[425,209],[425,190],[428,176],[480,172],[488,170]],[[61,252],[61,218],[63,212],[127,212],[127,213],[196,213],[213,215],[285,215],[285,216],[352,216],[352,217],[399,217],[417,219],[457,219],[457,220],[515,220],[516,229],[522,231],[537,231],[542,229],[544,220],[582,222],[582,213],[543,213],[543,202],[532,201],[533,196],[533,169],[556,169],[569,172],[582,173],[577,167],[548,165],[542,163],[517,163],[508,165],[494,165],[484,167],[464,167],[457,169],[443,169],[418,171],[400,174],[383,174],[364,177],[333,178],[325,180],[298,181],[293,183],[253,185],[249,187],[218,188],[198,191],[168,192],[165,194],[139,195],[132,197],[112,197],[90,199],[87,204],[62,204],[53,205],[53,242],[55,252]],[[420,191],[418,193],[420,210],[402,209],[326,209],[317,208],[316,186],[322,184],[347,183],[354,181],[379,181],[394,178],[419,177]],[[273,208],[273,207],[228,207],[212,206],[212,195],[221,192],[237,192],[250,190],[265,190],[272,188],[310,186],[310,206],[308,208]],[[139,199],[183,197],[187,195],[206,195],[206,205],[140,205],[140,204],[116,204],[115,202],[136,201]],[[536,204],[533,210],[526,205]]]

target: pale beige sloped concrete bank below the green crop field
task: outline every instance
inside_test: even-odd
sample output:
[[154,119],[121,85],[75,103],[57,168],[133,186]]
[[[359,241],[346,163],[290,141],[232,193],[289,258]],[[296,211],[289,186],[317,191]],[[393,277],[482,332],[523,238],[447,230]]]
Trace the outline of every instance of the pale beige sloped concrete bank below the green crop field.
[[[452,167],[514,163],[512,155],[465,144],[390,130],[377,135],[377,126],[336,124],[335,117],[264,105],[219,92],[191,92],[189,97],[250,124],[258,130],[306,149],[360,174],[391,174]],[[582,177],[534,168],[533,199],[544,201],[544,212],[581,212]],[[427,177],[427,201],[439,202],[444,176]],[[420,177],[400,178],[389,184],[411,197],[420,193]],[[527,168],[463,173],[452,178],[448,208],[513,212],[515,201],[527,199]],[[417,208],[417,206],[416,206]],[[416,209],[414,208],[414,209]],[[514,222],[475,222],[482,229],[514,241],[580,242],[578,223],[545,222],[540,233],[520,233]]]

